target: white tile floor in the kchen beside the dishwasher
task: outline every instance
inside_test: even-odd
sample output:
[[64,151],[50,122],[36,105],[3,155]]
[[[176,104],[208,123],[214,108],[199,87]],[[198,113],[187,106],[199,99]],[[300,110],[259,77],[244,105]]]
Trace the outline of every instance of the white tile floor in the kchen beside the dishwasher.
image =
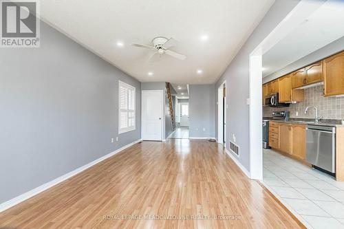
[[344,182],[264,149],[263,184],[308,228],[344,228]]

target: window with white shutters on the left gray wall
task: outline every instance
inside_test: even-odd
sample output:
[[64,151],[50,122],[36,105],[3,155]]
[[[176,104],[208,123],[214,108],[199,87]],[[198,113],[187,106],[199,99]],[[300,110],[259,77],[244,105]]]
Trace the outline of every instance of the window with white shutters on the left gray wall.
[[133,131],[135,128],[135,87],[119,81],[119,124],[118,133]]

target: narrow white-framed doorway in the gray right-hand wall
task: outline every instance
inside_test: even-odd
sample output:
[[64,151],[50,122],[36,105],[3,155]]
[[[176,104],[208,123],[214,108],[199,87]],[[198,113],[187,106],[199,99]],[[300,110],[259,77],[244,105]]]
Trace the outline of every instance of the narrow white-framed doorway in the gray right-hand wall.
[[226,148],[226,81],[217,89],[217,106],[218,106],[218,133],[217,142],[223,144]]

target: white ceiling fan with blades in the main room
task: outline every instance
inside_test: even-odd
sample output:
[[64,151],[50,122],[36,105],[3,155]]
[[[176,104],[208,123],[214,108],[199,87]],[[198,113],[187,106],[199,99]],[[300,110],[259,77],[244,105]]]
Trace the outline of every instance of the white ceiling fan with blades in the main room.
[[[166,37],[158,36],[158,37],[155,37],[155,39],[153,39],[152,43],[153,43],[153,46],[141,45],[141,44],[136,44],[136,43],[131,43],[131,46],[143,47],[143,48],[148,49],[148,50],[155,50],[153,56],[155,54],[160,54],[160,56],[162,54],[167,54],[169,56],[173,56],[174,58],[178,58],[181,61],[185,60],[185,58],[186,58],[186,56],[183,54],[179,54],[178,52],[174,52],[174,51],[169,50],[169,48],[172,47],[175,43],[175,39],[173,39],[173,38],[166,39]],[[151,58],[153,56],[151,56]]]

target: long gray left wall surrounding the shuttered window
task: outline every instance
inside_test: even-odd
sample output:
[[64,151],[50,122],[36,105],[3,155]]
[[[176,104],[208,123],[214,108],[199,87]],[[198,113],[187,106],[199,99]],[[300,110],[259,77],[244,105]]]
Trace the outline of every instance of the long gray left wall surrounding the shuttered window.
[[[120,135],[118,80],[136,87],[136,130]],[[0,203],[140,139],[140,88],[43,22],[40,48],[1,49]]]

